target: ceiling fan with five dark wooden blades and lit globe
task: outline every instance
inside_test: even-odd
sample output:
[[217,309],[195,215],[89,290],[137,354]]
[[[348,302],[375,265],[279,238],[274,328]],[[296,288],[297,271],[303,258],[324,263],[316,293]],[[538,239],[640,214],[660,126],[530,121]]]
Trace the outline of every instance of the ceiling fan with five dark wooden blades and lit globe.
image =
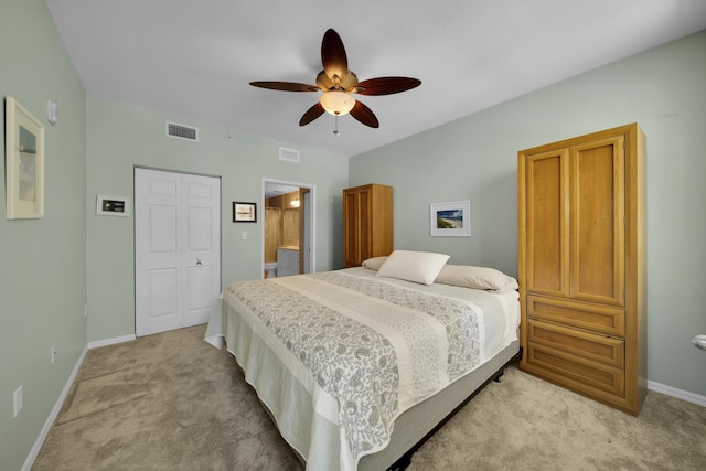
[[[323,71],[317,75],[317,85],[296,82],[250,82],[250,85],[284,92],[322,92],[319,101],[303,114],[299,126],[306,126],[328,111],[336,116],[336,119],[339,116],[350,113],[355,119],[371,128],[379,127],[377,117],[367,106],[356,100],[353,94],[392,95],[421,85],[421,81],[409,77],[378,77],[359,82],[357,76],[349,71],[343,41],[341,41],[339,33],[332,29],[323,34],[321,62]],[[339,133],[338,126],[333,133]]]

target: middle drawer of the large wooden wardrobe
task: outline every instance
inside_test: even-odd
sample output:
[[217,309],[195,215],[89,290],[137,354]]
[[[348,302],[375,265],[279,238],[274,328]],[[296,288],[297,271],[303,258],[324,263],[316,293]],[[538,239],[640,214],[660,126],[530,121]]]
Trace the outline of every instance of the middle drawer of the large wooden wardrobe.
[[625,342],[621,339],[530,320],[527,322],[527,341],[608,366],[624,368]]

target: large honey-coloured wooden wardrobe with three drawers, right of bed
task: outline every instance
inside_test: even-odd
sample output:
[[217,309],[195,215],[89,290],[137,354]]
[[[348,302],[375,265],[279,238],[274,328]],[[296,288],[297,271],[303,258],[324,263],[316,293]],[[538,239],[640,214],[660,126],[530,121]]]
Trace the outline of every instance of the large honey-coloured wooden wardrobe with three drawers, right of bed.
[[645,138],[520,151],[522,370],[625,413],[646,394]]

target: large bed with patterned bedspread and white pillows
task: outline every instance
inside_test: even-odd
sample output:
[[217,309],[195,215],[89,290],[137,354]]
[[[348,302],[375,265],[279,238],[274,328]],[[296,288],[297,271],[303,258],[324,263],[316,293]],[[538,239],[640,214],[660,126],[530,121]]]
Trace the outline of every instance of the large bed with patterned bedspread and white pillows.
[[404,469],[517,357],[516,281],[438,255],[224,289],[206,341],[225,343],[307,470]]

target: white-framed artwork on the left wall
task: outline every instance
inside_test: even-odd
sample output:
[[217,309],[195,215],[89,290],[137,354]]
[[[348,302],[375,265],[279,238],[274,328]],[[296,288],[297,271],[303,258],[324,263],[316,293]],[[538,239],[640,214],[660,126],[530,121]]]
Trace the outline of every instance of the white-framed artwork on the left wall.
[[6,217],[44,217],[44,126],[6,98]]

